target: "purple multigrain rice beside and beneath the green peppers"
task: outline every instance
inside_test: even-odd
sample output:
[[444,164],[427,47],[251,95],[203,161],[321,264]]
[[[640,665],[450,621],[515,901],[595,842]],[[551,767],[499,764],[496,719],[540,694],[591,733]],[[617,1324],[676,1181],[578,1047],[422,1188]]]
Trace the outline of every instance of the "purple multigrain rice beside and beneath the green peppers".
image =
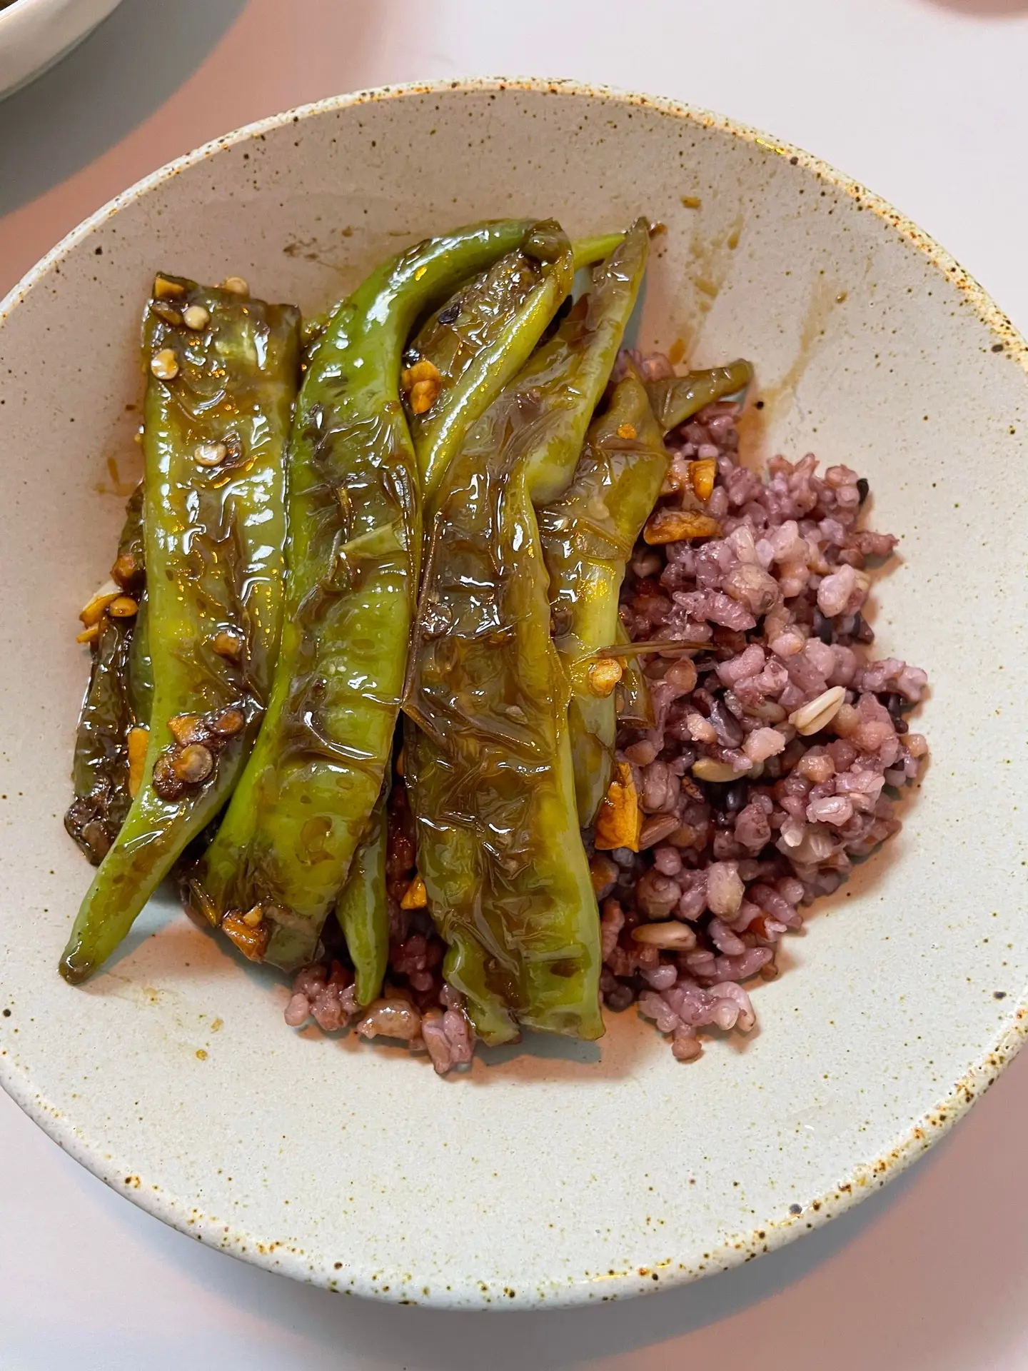
[[[673,374],[661,354],[632,362],[648,378]],[[742,983],[774,979],[781,936],[803,927],[800,906],[831,894],[854,858],[899,829],[884,787],[914,780],[928,751],[903,718],[925,673],[866,657],[866,562],[896,546],[855,526],[866,481],[842,465],[818,477],[813,455],[795,465],[776,457],[762,481],[739,465],[737,417],[733,403],[711,404],[669,439],[670,494],[661,505],[691,492],[692,461],[714,459],[706,513],[722,536],[640,542],[621,616],[635,642],[706,646],[691,659],[674,651],[644,659],[654,727],[618,733],[643,809],[640,850],[592,857],[603,1001],[611,1010],[636,1002],[680,1061],[702,1054],[700,1030],[754,1027]],[[822,696],[831,717],[799,732],[800,712]],[[729,766],[732,779],[696,779],[702,760]],[[285,1020],[299,1027],[313,1017],[332,1030],[356,1019],[362,1036],[406,1041],[443,1075],[472,1060],[474,1031],[443,980],[444,949],[428,912],[400,908],[414,875],[397,779],[382,995],[358,1010],[352,972],[330,960],[297,975]]]

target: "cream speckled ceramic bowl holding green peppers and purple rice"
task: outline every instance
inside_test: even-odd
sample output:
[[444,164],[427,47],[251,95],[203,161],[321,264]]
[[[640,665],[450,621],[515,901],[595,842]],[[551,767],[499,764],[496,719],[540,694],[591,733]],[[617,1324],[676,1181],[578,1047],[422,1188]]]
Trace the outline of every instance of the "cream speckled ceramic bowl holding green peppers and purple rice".
[[[901,536],[883,654],[931,673],[903,832],[788,939],[759,1030],[694,1064],[635,1013],[596,1045],[425,1058],[282,1023],[171,898],[82,988],[56,973],[89,868],[66,838],[77,611],[136,476],[156,269],[323,307],[384,255],[489,215],[639,213],[639,339],[757,366],[755,461],[866,474]],[[666,100],[473,81],[326,100],[119,196],[3,304],[0,1080],[110,1186],[330,1289],[450,1307],[652,1291],[824,1223],[922,1153],[1020,1046],[1028,769],[1025,347],[917,228],[824,163]]]

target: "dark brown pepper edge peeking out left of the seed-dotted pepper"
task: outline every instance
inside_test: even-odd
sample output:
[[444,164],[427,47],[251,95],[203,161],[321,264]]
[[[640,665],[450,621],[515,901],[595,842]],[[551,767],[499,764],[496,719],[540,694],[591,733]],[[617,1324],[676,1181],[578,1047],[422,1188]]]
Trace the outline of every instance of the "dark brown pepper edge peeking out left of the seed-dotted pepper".
[[[112,570],[122,576],[123,590],[137,592],[143,583],[141,484],[126,506]],[[132,688],[130,661],[137,633],[138,616],[103,614],[78,718],[71,772],[75,798],[64,814],[64,827],[93,865],[103,860],[129,812],[126,738],[133,724],[148,717],[145,702]]]

